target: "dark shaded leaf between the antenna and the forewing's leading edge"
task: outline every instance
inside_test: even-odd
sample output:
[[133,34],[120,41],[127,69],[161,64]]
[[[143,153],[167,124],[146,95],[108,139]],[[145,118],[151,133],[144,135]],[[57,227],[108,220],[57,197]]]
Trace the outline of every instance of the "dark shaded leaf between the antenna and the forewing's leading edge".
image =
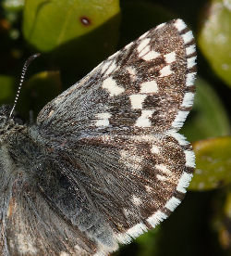
[[23,84],[19,97],[18,110],[28,119],[29,111],[33,110],[34,116],[44,105],[61,93],[61,80],[58,71],[43,71],[34,74]]

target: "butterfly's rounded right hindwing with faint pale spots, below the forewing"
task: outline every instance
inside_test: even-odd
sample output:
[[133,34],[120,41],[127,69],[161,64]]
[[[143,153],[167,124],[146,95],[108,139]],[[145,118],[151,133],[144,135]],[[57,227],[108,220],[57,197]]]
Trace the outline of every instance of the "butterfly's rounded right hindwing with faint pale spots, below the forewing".
[[193,152],[182,135],[180,140],[154,134],[91,137],[79,141],[77,152],[79,165],[91,166],[88,194],[110,219],[120,243],[167,218],[184,197],[194,169]]

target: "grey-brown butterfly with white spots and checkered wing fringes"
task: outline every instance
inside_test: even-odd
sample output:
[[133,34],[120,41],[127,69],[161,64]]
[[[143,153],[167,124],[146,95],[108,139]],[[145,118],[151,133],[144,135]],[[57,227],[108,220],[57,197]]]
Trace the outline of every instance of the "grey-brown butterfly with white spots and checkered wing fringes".
[[35,124],[0,108],[1,255],[107,255],[184,198],[195,167],[177,131],[195,93],[181,19],[144,33],[55,97]]

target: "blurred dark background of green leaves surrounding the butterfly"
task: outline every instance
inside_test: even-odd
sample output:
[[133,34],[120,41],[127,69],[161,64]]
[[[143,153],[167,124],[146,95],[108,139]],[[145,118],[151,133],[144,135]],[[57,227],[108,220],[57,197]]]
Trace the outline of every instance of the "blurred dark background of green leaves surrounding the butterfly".
[[176,211],[115,256],[231,255],[231,0],[0,1],[0,104],[13,103],[25,59],[43,54],[19,97],[25,121],[104,58],[176,18],[197,41],[197,95],[181,130],[196,172]]

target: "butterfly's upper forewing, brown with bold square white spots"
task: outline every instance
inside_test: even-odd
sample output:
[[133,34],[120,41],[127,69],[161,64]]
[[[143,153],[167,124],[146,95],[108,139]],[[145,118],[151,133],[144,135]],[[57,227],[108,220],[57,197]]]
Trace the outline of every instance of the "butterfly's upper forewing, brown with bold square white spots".
[[57,96],[38,123],[78,136],[177,131],[193,102],[195,55],[180,19],[158,26]]

